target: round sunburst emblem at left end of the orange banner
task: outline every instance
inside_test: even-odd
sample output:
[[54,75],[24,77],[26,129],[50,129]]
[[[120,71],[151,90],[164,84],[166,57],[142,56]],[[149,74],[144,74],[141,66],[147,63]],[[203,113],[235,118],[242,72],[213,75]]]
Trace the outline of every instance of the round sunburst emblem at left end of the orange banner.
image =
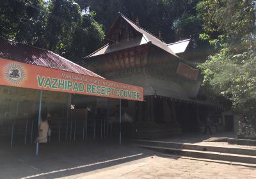
[[24,68],[19,64],[12,63],[5,68],[4,77],[12,84],[19,84],[25,79]]

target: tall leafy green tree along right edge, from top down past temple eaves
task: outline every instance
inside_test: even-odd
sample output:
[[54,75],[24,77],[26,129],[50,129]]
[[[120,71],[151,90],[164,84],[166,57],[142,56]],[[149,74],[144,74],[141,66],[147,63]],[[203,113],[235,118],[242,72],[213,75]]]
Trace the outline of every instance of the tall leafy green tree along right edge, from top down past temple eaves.
[[204,84],[230,100],[235,109],[246,111],[255,124],[255,1],[204,0],[197,10],[204,29],[200,36],[215,47],[199,66]]

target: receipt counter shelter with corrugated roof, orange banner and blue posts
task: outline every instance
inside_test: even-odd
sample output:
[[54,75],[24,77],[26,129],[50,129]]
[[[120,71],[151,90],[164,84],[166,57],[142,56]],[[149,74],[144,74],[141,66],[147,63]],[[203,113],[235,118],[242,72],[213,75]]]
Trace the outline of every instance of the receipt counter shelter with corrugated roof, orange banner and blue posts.
[[108,81],[44,49],[1,41],[3,144],[11,148],[36,144],[38,155],[38,128],[44,109],[51,114],[48,143],[112,137],[122,143],[122,100],[142,101],[143,88]]

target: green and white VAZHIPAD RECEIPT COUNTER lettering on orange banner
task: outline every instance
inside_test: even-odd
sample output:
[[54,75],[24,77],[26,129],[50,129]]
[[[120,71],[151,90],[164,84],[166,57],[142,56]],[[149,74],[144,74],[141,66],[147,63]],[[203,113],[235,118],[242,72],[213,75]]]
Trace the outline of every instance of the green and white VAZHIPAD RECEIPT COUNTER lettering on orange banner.
[[130,91],[125,89],[111,88],[108,86],[100,86],[99,84],[90,84],[86,82],[70,81],[65,79],[51,78],[37,75],[38,87],[48,89],[59,89],[70,91],[73,93],[89,93],[93,95],[100,95],[102,97],[116,97],[116,98],[132,98],[140,99],[140,93],[137,91]]

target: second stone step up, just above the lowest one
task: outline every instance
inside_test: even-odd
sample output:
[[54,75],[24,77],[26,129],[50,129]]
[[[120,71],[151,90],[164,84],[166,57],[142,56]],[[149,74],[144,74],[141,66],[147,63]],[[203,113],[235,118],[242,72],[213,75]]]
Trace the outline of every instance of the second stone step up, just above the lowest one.
[[255,149],[237,148],[234,146],[209,146],[204,144],[190,144],[190,143],[170,143],[164,141],[151,141],[151,140],[134,140],[134,143],[143,144],[148,146],[159,146],[164,148],[177,148],[186,150],[196,150],[203,152],[219,152],[219,153],[233,153],[238,155],[252,155],[256,156]]

